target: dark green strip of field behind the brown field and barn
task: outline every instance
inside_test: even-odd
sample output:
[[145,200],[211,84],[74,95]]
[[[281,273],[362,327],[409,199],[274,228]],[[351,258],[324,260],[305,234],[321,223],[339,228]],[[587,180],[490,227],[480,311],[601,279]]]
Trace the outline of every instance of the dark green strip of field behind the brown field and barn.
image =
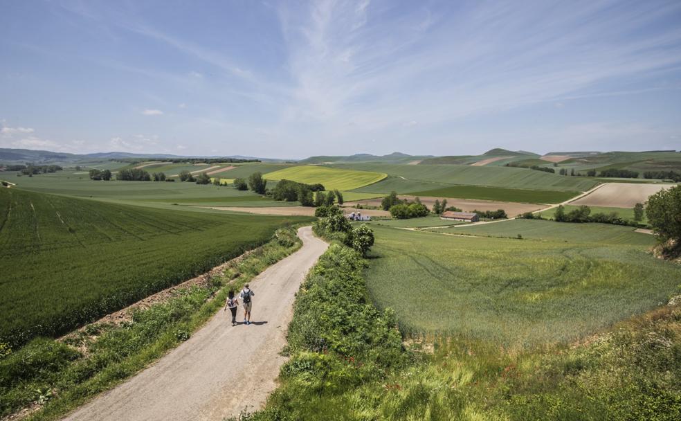
[[554,204],[575,197],[579,195],[579,192],[482,186],[448,186],[433,190],[410,192],[410,195]]

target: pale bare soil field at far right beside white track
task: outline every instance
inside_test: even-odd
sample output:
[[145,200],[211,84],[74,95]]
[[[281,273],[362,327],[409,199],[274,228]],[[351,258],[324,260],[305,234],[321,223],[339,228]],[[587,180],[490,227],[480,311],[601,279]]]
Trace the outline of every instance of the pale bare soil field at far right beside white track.
[[633,208],[637,203],[645,203],[648,196],[670,187],[673,187],[673,184],[605,183],[603,187],[571,201],[570,204]]

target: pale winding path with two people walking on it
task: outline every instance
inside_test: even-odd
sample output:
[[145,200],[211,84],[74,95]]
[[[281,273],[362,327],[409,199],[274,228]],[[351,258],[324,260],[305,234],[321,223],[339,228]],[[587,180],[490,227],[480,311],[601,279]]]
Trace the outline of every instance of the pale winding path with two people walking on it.
[[[309,226],[303,246],[252,282],[252,325],[230,325],[219,312],[206,326],[127,382],[71,413],[66,420],[222,420],[260,408],[275,388],[284,357],[291,305],[302,279],[328,244]],[[237,320],[243,320],[242,309]]]

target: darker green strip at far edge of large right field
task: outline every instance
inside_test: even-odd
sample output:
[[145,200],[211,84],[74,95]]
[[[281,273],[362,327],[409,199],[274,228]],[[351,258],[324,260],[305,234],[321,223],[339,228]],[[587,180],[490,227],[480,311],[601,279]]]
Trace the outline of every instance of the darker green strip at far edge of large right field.
[[517,238],[518,234],[526,240],[545,240],[570,243],[603,243],[653,246],[655,237],[637,233],[630,226],[610,224],[572,224],[568,222],[511,220],[460,226],[453,229],[433,229],[450,234],[482,235],[485,237]]

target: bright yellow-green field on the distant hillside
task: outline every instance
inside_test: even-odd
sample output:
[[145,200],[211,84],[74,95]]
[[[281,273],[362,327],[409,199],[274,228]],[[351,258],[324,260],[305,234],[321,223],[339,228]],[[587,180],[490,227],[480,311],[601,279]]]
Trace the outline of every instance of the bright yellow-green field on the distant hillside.
[[287,179],[299,183],[322,183],[327,190],[354,190],[386,177],[381,172],[338,170],[318,165],[301,165],[264,174],[265,179]]

